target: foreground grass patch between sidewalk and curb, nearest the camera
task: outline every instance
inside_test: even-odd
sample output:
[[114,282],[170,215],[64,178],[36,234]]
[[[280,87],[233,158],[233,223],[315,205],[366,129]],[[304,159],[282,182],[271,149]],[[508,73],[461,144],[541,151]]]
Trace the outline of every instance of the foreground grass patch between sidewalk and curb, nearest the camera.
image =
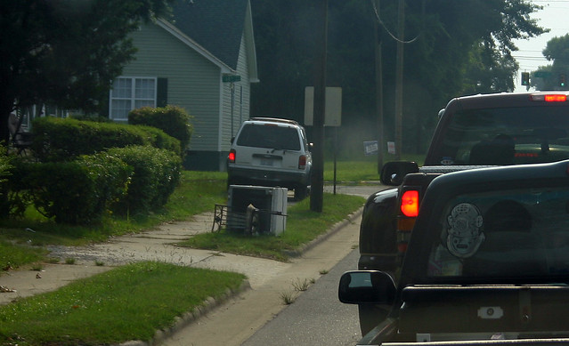
[[0,306],[0,343],[100,345],[149,341],[209,296],[244,276],[163,262],[139,262]]

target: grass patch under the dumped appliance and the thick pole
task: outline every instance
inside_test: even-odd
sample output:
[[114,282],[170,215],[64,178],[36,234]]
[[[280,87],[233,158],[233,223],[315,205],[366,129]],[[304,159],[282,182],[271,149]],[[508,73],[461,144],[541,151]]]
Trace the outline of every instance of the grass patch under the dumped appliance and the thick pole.
[[322,213],[310,210],[310,198],[289,207],[287,227],[279,237],[266,234],[248,237],[222,229],[196,235],[178,245],[286,262],[289,252],[325,233],[336,222],[358,210],[364,202],[363,197],[325,193]]

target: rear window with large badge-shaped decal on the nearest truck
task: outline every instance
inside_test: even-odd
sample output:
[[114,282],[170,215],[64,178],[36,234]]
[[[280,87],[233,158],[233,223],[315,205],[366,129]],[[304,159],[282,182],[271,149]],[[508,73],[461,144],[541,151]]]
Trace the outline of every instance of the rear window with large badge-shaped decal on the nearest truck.
[[433,229],[429,278],[569,274],[569,188],[460,195]]

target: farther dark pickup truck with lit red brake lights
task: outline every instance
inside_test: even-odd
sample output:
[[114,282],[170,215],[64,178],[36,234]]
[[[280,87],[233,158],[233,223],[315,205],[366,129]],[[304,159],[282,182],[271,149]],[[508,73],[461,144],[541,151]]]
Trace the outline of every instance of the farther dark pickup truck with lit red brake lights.
[[[423,195],[435,177],[569,158],[568,95],[496,93],[451,100],[439,113],[424,165],[384,165],[381,181],[395,188],[368,198],[362,214],[358,269],[386,271],[397,281]],[[359,307],[362,334],[377,325],[382,311],[386,313],[379,306]]]

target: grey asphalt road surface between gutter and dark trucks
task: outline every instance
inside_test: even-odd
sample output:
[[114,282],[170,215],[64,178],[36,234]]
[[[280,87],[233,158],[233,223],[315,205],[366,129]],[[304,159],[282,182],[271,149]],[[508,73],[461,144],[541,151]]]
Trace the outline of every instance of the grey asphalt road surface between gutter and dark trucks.
[[356,268],[358,255],[356,249],[345,256],[242,345],[354,345],[358,342],[362,334],[357,305],[337,300],[339,278],[346,270]]

